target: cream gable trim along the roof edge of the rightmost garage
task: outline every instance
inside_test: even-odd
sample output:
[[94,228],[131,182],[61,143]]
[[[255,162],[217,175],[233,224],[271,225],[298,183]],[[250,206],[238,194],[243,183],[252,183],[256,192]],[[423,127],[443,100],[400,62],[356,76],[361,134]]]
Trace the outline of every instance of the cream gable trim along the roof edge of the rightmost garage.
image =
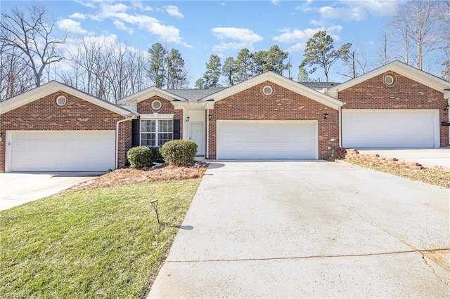
[[439,77],[429,74],[428,72],[424,72],[416,67],[412,67],[411,65],[406,65],[404,62],[395,60],[387,65],[383,65],[383,67],[378,67],[378,69],[373,69],[371,72],[367,72],[366,74],[350,79],[349,81],[339,84],[338,86],[329,88],[328,92],[330,95],[338,95],[339,91],[343,91],[349,87],[355,86],[356,84],[360,84],[361,82],[376,77],[380,74],[384,74],[385,72],[395,72],[397,74],[401,74],[401,76],[417,81],[420,84],[429,86],[430,88],[442,93],[444,93],[444,90],[450,88],[449,81],[445,81]]

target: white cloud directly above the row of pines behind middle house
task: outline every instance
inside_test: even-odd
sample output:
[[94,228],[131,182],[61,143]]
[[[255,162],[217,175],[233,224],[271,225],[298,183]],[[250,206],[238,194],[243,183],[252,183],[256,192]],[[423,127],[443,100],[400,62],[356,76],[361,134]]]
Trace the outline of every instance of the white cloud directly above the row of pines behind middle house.
[[237,50],[240,48],[252,50],[254,48],[253,44],[263,40],[262,36],[247,28],[217,27],[212,28],[211,31],[219,40],[231,39],[231,41],[223,41],[221,44],[215,45],[215,51]]

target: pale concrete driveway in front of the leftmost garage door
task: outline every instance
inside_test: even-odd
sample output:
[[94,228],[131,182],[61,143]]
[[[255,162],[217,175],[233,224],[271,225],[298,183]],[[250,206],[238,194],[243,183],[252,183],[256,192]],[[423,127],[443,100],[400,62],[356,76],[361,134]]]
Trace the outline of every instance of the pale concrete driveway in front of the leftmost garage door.
[[0,211],[48,197],[102,174],[98,172],[0,173]]

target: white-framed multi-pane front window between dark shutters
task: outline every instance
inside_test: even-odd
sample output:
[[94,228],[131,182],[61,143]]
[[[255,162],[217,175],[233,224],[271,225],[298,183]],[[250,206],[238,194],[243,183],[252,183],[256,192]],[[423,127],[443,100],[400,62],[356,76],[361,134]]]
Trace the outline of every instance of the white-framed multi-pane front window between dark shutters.
[[142,119],[141,145],[159,147],[174,139],[173,119]]

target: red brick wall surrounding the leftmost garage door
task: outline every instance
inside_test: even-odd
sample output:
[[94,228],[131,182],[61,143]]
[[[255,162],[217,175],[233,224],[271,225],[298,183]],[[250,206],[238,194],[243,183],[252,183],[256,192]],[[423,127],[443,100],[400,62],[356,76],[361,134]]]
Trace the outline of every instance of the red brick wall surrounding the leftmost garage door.
[[[63,107],[56,105],[59,95],[67,98]],[[4,141],[0,143],[0,172],[5,171],[6,131],[115,130],[117,121],[122,119],[120,114],[62,91],[1,114],[0,132]],[[119,139],[119,167],[122,167],[131,147],[131,121],[120,124]]]

